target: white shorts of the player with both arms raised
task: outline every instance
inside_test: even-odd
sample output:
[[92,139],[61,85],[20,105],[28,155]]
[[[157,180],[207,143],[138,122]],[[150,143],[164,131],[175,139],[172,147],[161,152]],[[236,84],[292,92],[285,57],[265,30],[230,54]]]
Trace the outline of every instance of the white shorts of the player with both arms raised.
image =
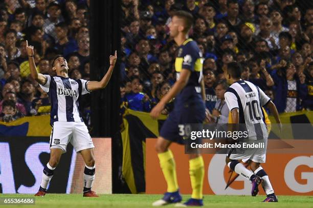
[[94,143],[84,122],[55,121],[50,136],[50,149],[62,149],[71,142],[76,152],[94,148]]

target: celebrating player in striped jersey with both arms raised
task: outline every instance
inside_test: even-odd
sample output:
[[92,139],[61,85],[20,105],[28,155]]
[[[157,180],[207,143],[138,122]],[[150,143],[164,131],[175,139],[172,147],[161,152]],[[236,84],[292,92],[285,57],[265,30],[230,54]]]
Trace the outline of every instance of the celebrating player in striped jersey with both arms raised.
[[73,80],[69,78],[69,66],[63,57],[56,57],[52,63],[52,69],[56,76],[43,75],[37,72],[34,62],[34,47],[29,46],[26,41],[26,50],[29,57],[31,76],[51,99],[51,121],[52,133],[50,136],[50,160],[43,168],[41,185],[35,196],[44,196],[47,192],[48,184],[57,167],[61,154],[66,152],[66,146],[71,142],[77,153],[82,155],[85,162],[84,169],[84,189],[83,196],[98,197],[91,190],[95,178],[94,144],[88,133],[78,111],[78,99],[80,96],[94,90],[105,88],[110,80],[113,68],[117,60],[115,56],[110,56],[110,67],[100,82]]

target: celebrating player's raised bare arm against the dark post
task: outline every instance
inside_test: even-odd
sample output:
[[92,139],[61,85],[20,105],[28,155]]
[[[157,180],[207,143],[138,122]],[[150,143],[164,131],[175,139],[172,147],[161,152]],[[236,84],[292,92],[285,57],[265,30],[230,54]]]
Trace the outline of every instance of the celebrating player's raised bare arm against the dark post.
[[106,87],[107,83],[110,81],[115,63],[117,60],[117,51],[115,51],[114,56],[110,56],[110,67],[108,68],[106,74],[103,76],[102,80],[100,82],[98,81],[90,81],[87,83],[87,88],[90,91],[103,89]]

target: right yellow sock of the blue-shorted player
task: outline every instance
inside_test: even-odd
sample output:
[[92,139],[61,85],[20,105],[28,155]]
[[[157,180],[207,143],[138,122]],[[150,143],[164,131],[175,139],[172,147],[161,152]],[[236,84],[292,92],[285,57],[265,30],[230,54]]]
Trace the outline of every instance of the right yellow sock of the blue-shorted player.
[[202,156],[189,160],[189,175],[193,199],[203,198],[204,161]]

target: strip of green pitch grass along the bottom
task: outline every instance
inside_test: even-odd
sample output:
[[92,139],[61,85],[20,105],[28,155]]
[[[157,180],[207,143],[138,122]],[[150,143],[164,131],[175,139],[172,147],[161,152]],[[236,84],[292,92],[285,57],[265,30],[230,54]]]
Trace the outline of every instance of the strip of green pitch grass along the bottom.
[[[1,194],[1,198],[26,198],[33,197],[29,194]],[[162,195],[145,194],[111,194],[100,195],[99,198],[82,197],[81,194],[47,194],[44,197],[35,197],[35,205],[25,205],[24,207],[152,207],[151,203],[158,200]],[[186,200],[190,195],[183,195]],[[260,202],[264,196],[204,196],[204,207],[313,207],[313,196],[278,196],[278,203]],[[20,205],[0,205],[2,207],[21,207]],[[174,207],[166,205],[164,207]]]

